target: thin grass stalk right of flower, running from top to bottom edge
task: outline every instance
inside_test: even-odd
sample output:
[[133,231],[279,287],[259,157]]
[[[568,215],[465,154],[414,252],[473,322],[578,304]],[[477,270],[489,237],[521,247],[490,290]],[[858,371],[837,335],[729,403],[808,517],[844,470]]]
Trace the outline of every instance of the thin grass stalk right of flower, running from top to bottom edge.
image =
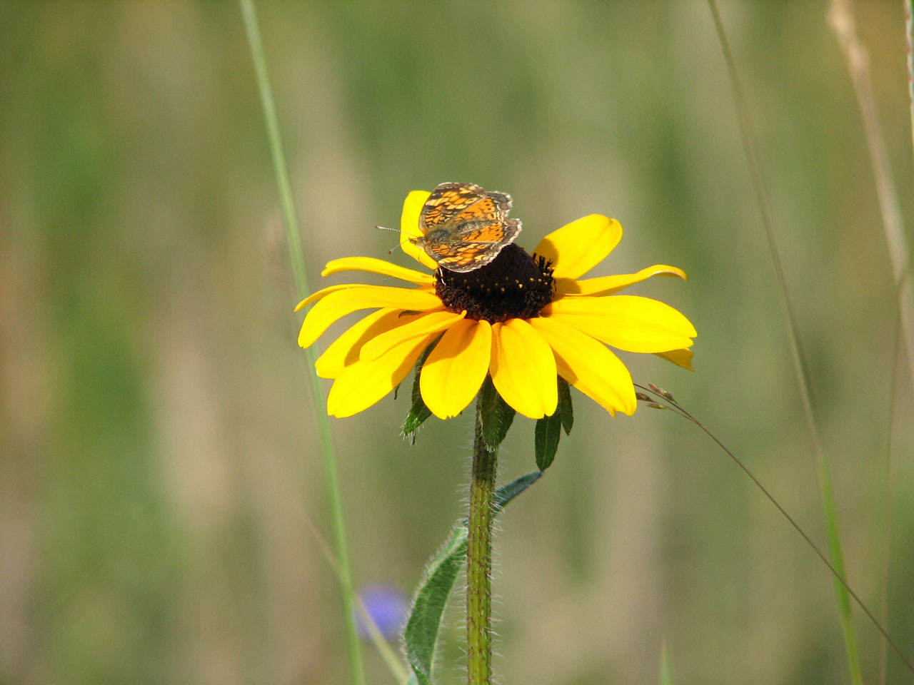
[[[739,72],[736,68],[736,60],[733,58],[733,54],[730,51],[723,21],[717,10],[717,3],[715,0],[707,0],[707,4],[710,7],[711,16],[714,19],[714,26],[717,30],[717,38],[720,41],[724,60],[727,63],[733,88],[734,101],[737,108],[739,131],[742,137],[746,159],[749,163],[749,174],[752,177],[752,185],[755,190],[756,199],[759,203],[761,223],[765,230],[769,251],[771,252],[771,262],[774,267],[775,279],[778,283],[781,313],[783,314],[785,325],[789,333],[788,340],[791,347],[793,370],[800,390],[802,413],[805,418],[806,428],[813,448],[813,461],[815,462],[816,475],[818,477],[819,499],[822,502],[824,513],[828,552],[834,569],[838,574],[846,578],[844,555],[841,551],[841,537],[838,533],[837,513],[834,507],[834,489],[832,487],[831,475],[824,458],[822,444],[819,439],[819,431],[813,413],[813,390],[809,364],[802,348],[799,327],[796,323],[796,316],[787,288],[787,279],[784,275],[783,265],[781,263],[781,254],[774,235],[771,210],[769,209],[765,187],[761,180],[759,155],[757,152],[758,147],[749,121],[749,108],[747,107],[745,97],[743,96]],[[845,652],[847,654],[848,666],[851,671],[851,680],[855,685],[863,685],[863,675],[860,669],[860,658],[857,652],[856,636],[854,634],[854,616],[850,595],[848,595],[845,585],[842,585],[837,579],[834,579],[834,592],[841,617],[841,626],[845,638]]]

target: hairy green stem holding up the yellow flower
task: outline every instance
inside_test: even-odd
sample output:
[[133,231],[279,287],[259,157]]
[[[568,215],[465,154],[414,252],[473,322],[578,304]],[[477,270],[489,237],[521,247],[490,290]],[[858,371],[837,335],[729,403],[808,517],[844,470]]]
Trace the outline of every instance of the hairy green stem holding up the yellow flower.
[[466,643],[470,685],[492,681],[492,518],[497,448],[483,439],[482,400],[476,400],[476,435],[470,479],[469,534],[466,548]]

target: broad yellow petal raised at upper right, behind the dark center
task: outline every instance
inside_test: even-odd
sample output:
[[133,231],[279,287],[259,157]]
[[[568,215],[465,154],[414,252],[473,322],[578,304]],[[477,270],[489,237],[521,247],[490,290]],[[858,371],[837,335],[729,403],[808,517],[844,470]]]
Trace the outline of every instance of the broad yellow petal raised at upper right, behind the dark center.
[[577,279],[606,258],[621,239],[618,221],[591,214],[553,231],[534,252],[552,261],[556,279]]

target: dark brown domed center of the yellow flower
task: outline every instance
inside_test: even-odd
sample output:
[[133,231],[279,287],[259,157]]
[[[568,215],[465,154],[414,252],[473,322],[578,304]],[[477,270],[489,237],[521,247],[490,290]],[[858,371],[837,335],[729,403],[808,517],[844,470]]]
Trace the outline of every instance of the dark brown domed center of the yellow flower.
[[552,267],[514,243],[492,262],[473,271],[435,272],[435,293],[447,311],[466,310],[467,319],[506,321],[537,316],[555,294]]

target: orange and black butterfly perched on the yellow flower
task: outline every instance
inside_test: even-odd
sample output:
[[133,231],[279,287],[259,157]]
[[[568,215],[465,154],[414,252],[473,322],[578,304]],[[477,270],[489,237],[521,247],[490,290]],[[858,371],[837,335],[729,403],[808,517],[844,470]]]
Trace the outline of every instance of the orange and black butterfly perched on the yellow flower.
[[473,271],[498,257],[520,233],[520,219],[507,218],[510,209],[511,195],[474,184],[441,184],[422,206],[422,235],[409,242],[443,269]]

